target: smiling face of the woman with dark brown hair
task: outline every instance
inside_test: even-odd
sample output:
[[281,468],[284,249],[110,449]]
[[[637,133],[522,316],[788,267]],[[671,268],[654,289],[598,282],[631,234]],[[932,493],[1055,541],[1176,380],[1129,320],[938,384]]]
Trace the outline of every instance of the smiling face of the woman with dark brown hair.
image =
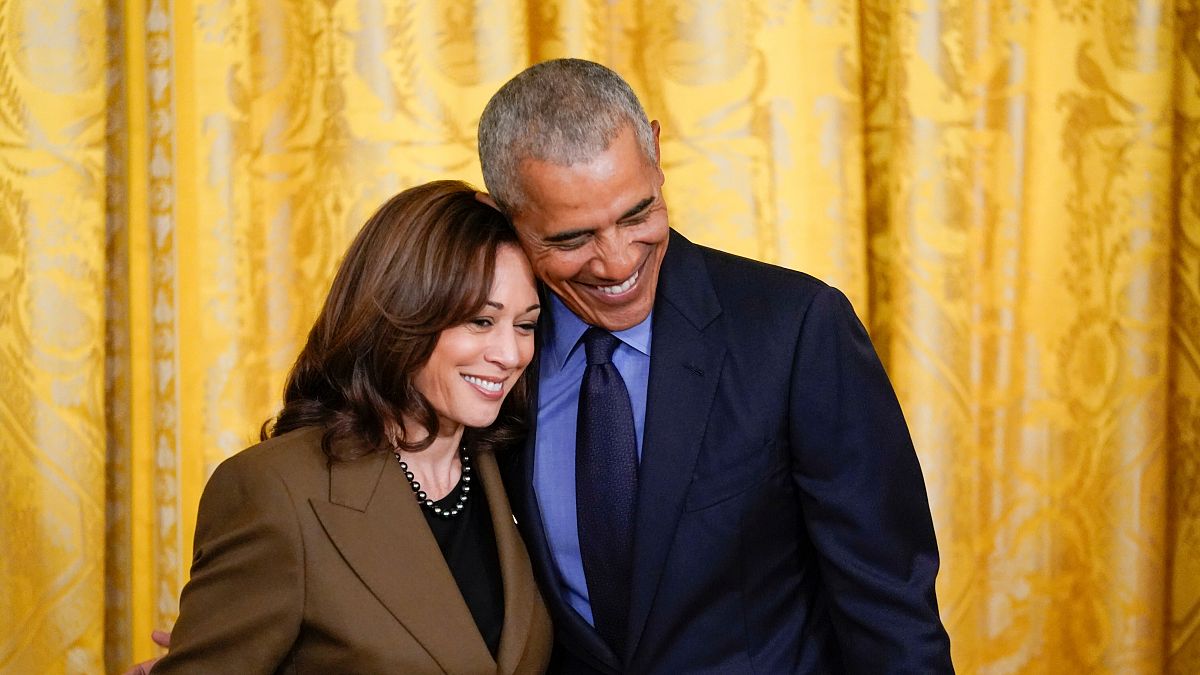
[[438,413],[440,434],[487,426],[533,358],[540,307],[533,269],[516,245],[500,246],[487,304],[438,336],[414,384]]

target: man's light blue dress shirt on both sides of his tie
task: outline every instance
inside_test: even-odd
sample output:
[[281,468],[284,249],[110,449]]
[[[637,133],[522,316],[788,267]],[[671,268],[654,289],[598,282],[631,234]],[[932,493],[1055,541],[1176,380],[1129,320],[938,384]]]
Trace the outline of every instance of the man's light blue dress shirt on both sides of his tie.
[[[593,626],[588,585],[580,557],[580,527],[575,513],[575,426],[580,407],[580,386],[587,357],[580,338],[588,329],[550,294],[550,319],[539,330],[541,342],[538,374],[538,436],[534,449],[533,486],[541,510],[541,524],[550,544],[563,597]],[[642,323],[613,333],[620,345],[613,352],[629,402],[634,407],[637,456],[642,456],[646,429],[646,386],[650,375],[650,316]]]

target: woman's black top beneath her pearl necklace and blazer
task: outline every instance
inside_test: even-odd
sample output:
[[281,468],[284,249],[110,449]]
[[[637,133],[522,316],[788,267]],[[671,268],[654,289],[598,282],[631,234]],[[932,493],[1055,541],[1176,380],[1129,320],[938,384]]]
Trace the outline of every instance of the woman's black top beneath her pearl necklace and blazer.
[[[434,504],[443,509],[454,508],[462,494],[463,482]],[[421,507],[425,520],[438,540],[442,555],[450,566],[454,580],[458,583],[462,599],[475,617],[479,634],[487,643],[492,657],[500,646],[500,628],[504,627],[504,581],[500,578],[500,556],[496,550],[496,530],[492,513],[487,508],[487,496],[479,478],[470,482],[470,498],[462,512],[454,518],[434,515],[432,509]]]

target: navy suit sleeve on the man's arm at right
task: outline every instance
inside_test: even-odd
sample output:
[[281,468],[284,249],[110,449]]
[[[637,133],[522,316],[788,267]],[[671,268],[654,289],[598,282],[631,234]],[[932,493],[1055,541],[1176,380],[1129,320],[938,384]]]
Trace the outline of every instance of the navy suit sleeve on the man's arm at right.
[[920,465],[841,292],[809,306],[792,374],[793,476],[850,673],[953,673]]

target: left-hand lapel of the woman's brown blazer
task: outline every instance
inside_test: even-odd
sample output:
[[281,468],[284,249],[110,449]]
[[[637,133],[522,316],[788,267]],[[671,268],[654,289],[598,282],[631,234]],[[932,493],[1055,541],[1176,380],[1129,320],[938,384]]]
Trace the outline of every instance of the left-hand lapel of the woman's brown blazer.
[[379,453],[334,462],[329,501],[310,503],[347,563],[443,670],[493,671],[484,640],[463,639],[479,634],[475,620],[407,478],[390,460]]

